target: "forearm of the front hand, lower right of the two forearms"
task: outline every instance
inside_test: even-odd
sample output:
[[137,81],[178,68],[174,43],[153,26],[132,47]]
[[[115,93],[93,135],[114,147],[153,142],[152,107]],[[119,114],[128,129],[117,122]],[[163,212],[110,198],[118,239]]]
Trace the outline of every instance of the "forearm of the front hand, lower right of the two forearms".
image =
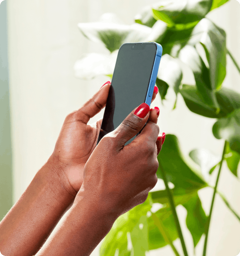
[[35,256],[89,256],[111,230],[115,219],[83,195]]

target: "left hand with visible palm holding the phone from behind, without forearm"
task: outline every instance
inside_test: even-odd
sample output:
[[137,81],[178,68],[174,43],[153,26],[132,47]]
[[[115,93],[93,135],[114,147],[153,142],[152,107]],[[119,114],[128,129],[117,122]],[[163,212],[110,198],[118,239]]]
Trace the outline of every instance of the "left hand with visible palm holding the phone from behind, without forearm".
[[[108,81],[79,110],[66,117],[54,152],[49,158],[54,166],[58,166],[60,175],[68,179],[70,191],[74,188],[78,192],[83,183],[84,166],[96,147],[102,118],[92,125],[87,123],[105,107],[110,84]],[[152,101],[156,98],[157,91],[155,86]],[[153,122],[157,122],[156,112],[152,111],[150,115]]]

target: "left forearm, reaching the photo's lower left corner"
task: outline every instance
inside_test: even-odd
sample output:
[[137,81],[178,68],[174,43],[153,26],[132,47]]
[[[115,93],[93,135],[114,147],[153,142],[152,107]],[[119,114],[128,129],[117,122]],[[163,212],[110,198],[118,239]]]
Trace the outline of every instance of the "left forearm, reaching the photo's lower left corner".
[[34,255],[74,201],[75,190],[48,161],[0,222],[0,251],[5,256]]

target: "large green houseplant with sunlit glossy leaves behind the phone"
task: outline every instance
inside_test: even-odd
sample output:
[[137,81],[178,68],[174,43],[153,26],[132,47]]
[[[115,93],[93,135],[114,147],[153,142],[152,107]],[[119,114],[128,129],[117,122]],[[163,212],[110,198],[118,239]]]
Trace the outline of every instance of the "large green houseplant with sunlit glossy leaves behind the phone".
[[[228,0],[162,0],[136,15],[132,25],[122,24],[113,14],[104,14],[99,22],[78,24],[83,35],[96,43],[103,43],[109,50],[109,54],[90,53],[77,61],[75,72],[79,78],[91,79],[97,75],[111,78],[118,49],[125,42],[160,43],[163,56],[156,85],[162,101],[165,101],[168,89],[172,88],[176,96],[181,94],[190,111],[216,119],[212,128],[213,136],[225,140],[222,156],[217,161],[203,149],[194,149],[189,153],[202,171],[206,168],[204,163],[207,158],[208,166],[211,164],[208,173],[211,175],[213,171],[217,172],[215,186],[212,187],[210,213],[207,216],[198,196],[198,190],[210,186],[204,172],[199,173],[185,160],[176,136],[166,135],[168,143],[158,156],[157,170],[157,177],[164,181],[165,190],[150,192],[143,204],[115,221],[104,239],[101,256],[112,256],[115,253],[118,256],[144,256],[145,251],[167,244],[179,256],[173,244],[177,238],[181,241],[184,256],[187,256],[176,212],[179,204],[187,210],[186,226],[192,235],[194,247],[205,234],[202,253],[205,256],[216,193],[240,221],[239,215],[226,198],[217,191],[223,161],[226,161],[229,171],[237,177],[240,160],[240,94],[222,87],[226,75],[226,55],[229,54],[239,73],[240,68],[226,48],[225,31],[205,17],[208,12],[226,2]],[[182,83],[180,62],[192,70],[194,85]],[[173,109],[176,108],[176,101]],[[169,182],[174,187],[170,188]],[[160,203],[162,207],[151,212],[154,203]],[[128,246],[129,240],[131,248]]]

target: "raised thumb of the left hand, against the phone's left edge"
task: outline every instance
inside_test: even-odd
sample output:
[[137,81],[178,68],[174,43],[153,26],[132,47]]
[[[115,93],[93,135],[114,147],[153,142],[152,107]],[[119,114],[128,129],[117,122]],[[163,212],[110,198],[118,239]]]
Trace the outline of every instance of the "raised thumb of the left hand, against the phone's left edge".
[[105,107],[111,82],[105,83],[79,110],[75,111],[74,117],[82,123],[98,114]]

